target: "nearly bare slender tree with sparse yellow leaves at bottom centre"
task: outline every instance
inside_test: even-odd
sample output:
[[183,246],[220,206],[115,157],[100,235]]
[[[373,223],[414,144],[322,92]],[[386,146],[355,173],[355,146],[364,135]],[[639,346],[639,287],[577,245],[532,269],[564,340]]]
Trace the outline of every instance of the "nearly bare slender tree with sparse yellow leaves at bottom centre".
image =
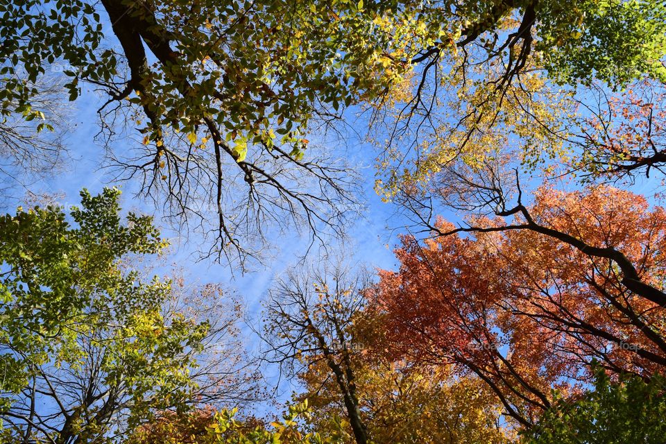
[[334,380],[357,444],[370,443],[357,393],[357,368],[352,362],[357,337],[355,314],[364,305],[365,286],[342,262],[289,273],[280,280],[266,307],[267,360],[280,364],[287,375],[321,363]]

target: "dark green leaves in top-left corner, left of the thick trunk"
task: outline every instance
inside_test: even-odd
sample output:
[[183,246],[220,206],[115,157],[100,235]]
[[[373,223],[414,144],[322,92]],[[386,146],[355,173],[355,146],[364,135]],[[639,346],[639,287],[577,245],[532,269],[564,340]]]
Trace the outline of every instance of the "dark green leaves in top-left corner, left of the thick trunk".
[[[51,3],[50,7],[48,6]],[[76,23],[76,25],[74,25]],[[111,51],[99,54],[104,34],[94,4],[80,0],[0,2],[0,114],[34,112],[31,97],[37,94],[37,78],[49,64],[60,62],[70,78],[69,99],[78,97],[78,76],[108,81],[117,59]],[[77,69],[83,71],[77,73]]]

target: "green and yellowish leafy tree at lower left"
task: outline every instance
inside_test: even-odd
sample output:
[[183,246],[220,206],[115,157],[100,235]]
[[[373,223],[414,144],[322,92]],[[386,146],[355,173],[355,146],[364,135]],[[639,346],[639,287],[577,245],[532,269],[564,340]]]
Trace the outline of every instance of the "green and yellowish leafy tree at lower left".
[[182,300],[171,282],[123,266],[165,246],[151,219],[123,222],[116,189],[81,195],[69,215],[37,207],[0,218],[4,433],[109,442],[158,410],[242,394],[241,379],[227,380],[234,368],[207,347],[233,334],[233,315],[172,309]]

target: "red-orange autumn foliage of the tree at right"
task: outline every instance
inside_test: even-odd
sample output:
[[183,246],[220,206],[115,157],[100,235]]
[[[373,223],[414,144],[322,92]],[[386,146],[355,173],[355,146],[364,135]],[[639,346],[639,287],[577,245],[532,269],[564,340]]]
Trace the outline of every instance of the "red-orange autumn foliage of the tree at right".
[[[540,225],[620,250],[643,282],[663,288],[663,208],[611,187],[543,188],[529,212]],[[425,244],[404,237],[396,254],[400,271],[380,272],[375,298],[394,352],[476,374],[523,425],[550,406],[550,388],[577,391],[592,360],[611,373],[665,369],[665,309],[626,289],[609,259],[531,230]]]

